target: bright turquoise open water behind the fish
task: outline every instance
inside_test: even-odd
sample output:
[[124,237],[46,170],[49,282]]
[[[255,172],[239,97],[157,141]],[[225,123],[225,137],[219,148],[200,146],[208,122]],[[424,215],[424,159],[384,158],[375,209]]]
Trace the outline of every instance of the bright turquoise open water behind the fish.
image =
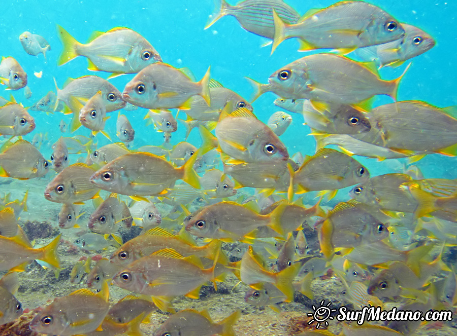
[[[288,0],[300,14],[310,8],[321,8],[331,5],[331,1],[302,1]],[[457,20],[457,2],[445,1],[372,1],[401,22],[416,25],[427,31],[437,41],[437,45],[426,54],[413,60],[412,66],[406,73],[400,85],[399,99],[425,100],[440,107],[457,104],[455,87],[457,84],[457,38],[455,29]],[[234,3],[232,3],[234,4]],[[37,101],[49,90],[55,91],[53,78],[61,88],[68,77],[77,78],[88,71],[87,60],[78,57],[63,66],[57,67],[56,59],[60,55],[62,45],[56,34],[56,24],[67,29],[78,41],[87,41],[93,30],[106,31],[116,26],[126,26],[141,33],[160,53],[162,59],[176,67],[190,68],[197,79],[203,77],[206,69],[211,65],[212,78],[220,81],[224,86],[238,92],[249,99],[252,88],[243,77],[250,77],[266,83],[269,75],[279,67],[290,63],[306,53],[299,53],[298,42],[288,40],[282,43],[275,53],[270,56],[270,47],[260,48],[266,40],[249,33],[241,28],[232,16],[221,18],[212,27],[204,30],[208,16],[214,10],[211,0],[192,1],[4,1],[1,4],[0,17],[0,55],[13,56],[28,73],[28,86],[33,96],[25,100],[23,91],[13,92],[18,101],[25,106]],[[48,52],[48,61],[44,63],[43,56],[27,55],[19,42],[19,35],[23,31],[30,31],[43,35],[51,44],[52,51]],[[384,79],[393,79],[399,76],[404,66],[398,69],[384,68],[381,76]],[[43,77],[38,79],[33,72],[43,70]],[[95,73],[106,78],[108,73]],[[120,90],[133,77],[126,75],[115,78],[111,82]],[[8,97],[12,91],[2,92],[0,95]],[[273,105],[275,95],[267,93],[254,102],[254,113],[259,119],[266,122],[269,116],[279,110]],[[390,102],[390,98],[382,97],[378,103]],[[137,131],[138,144],[162,143],[162,134],[152,127],[146,128],[143,117],[145,109],[123,112],[132,122]],[[59,121],[69,123],[70,117],[61,114],[48,116],[44,113],[31,111],[36,119],[37,128],[25,138],[31,138],[40,132],[48,132],[54,142],[61,135],[58,129]],[[117,113],[112,114],[107,122],[106,129],[114,141],[115,122]],[[184,115],[181,115],[184,117]],[[309,129],[302,125],[302,118],[293,115],[293,123],[281,139],[289,148],[292,155],[296,151],[312,155],[314,141],[306,136]],[[88,135],[89,131],[80,128],[76,134]],[[173,135],[172,143],[183,140],[184,127],[178,128]],[[67,134],[68,136],[68,134]],[[97,135],[101,144],[107,143],[103,135]],[[200,137],[193,131],[189,142],[198,145]],[[45,154],[45,156],[47,156]],[[49,157],[49,156],[47,156]],[[371,175],[393,172],[398,169],[396,162],[378,163],[373,159],[361,159],[369,167]],[[401,161],[403,162],[403,161]],[[453,158],[430,155],[417,165],[426,172],[426,177],[457,176],[453,167]]]

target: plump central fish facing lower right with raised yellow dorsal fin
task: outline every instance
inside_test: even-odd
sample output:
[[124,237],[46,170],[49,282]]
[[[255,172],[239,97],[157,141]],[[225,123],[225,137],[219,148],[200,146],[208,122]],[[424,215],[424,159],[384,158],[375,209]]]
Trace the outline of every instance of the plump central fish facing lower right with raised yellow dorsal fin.
[[250,110],[239,108],[230,115],[224,112],[215,129],[224,154],[247,163],[271,163],[289,158],[278,136]]

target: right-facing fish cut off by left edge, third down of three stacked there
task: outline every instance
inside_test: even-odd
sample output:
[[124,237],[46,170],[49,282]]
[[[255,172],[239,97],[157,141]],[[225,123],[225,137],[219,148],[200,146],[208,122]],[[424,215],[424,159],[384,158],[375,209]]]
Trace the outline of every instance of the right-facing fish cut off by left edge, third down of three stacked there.
[[0,154],[0,176],[18,179],[43,177],[49,171],[49,163],[30,142],[19,139],[6,142]]

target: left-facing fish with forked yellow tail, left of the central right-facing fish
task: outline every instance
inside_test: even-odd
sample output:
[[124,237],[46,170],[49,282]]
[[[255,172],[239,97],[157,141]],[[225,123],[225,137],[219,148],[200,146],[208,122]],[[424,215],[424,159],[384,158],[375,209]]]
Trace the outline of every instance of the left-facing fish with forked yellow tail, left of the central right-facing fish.
[[[128,196],[158,195],[171,188],[178,179],[199,189],[200,182],[192,168],[192,159],[182,167],[175,168],[168,161],[150,153],[129,153],[94,172],[90,181],[100,189]],[[148,167],[147,170],[145,167]]]

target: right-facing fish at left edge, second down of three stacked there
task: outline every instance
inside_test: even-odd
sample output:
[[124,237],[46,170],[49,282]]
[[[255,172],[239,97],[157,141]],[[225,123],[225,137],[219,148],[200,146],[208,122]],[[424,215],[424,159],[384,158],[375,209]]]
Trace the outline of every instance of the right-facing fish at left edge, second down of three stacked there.
[[19,136],[35,129],[35,119],[16,101],[0,107],[0,134]]

